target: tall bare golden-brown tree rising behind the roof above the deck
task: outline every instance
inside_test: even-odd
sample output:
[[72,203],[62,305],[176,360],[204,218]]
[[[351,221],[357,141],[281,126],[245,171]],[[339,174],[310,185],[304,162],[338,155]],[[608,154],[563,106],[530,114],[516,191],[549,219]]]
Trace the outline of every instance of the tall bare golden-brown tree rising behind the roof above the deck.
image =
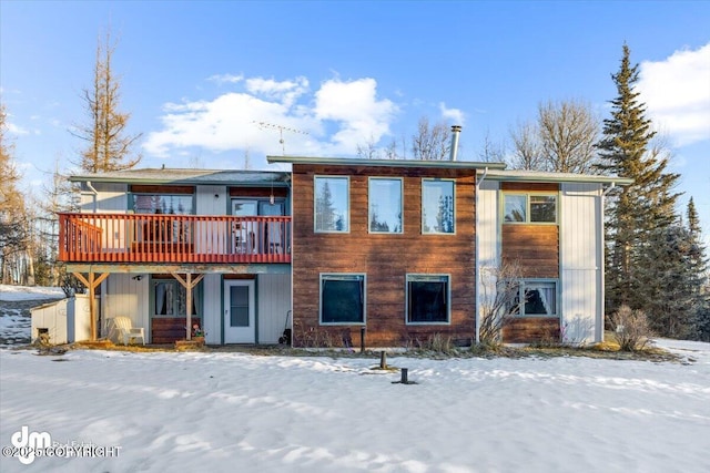
[[114,51],[115,43],[109,31],[105,42],[98,42],[93,82],[83,91],[89,123],[72,131],[74,136],[87,142],[79,164],[91,173],[128,169],[141,161],[141,155],[132,155],[131,151],[141,134],[125,133],[131,115],[119,111],[121,82],[113,74]]

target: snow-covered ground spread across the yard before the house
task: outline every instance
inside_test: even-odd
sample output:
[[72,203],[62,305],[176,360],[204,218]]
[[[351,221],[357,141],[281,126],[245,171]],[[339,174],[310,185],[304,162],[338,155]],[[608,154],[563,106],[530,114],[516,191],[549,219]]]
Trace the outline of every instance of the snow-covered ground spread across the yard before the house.
[[[686,362],[390,356],[407,385],[372,358],[3,349],[0,471],[710,471],[710,345],[659,345]],[[97,456],[6,456],[39,432]]]

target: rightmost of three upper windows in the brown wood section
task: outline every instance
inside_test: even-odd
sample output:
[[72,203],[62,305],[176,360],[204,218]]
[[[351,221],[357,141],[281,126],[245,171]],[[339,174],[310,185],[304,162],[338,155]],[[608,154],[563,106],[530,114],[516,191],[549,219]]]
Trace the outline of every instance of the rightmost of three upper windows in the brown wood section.
[[422,181],[422,233],[455,232],[454,181]]

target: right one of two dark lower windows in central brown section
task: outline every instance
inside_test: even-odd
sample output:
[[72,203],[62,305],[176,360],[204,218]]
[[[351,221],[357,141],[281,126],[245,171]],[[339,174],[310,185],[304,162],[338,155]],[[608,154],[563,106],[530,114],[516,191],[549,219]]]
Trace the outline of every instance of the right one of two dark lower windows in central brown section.
[[449,277],[407,275],[407,323],[448,323]]

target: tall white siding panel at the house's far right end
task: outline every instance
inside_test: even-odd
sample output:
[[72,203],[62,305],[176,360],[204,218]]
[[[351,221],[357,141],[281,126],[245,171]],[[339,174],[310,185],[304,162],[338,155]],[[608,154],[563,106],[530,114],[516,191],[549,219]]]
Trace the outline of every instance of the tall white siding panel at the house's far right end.
[[568,183],[561,186],[560,307],[565,341],[601,341],[604,301],[601,271],[601,186]]

